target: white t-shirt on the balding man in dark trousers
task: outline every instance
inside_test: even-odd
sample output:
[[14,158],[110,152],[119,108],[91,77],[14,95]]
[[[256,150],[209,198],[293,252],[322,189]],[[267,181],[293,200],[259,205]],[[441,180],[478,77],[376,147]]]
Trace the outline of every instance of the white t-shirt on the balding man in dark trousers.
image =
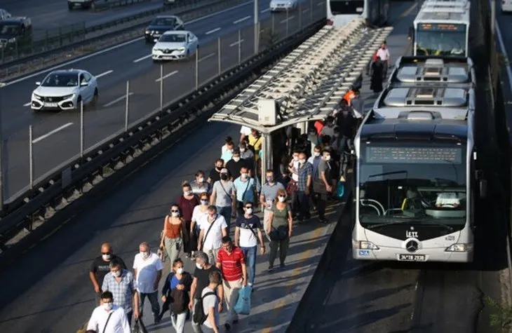
[[159,256],[151,252],[147,259],[143,259],[140,253],[137,253],[133,259],[133,269],[137,269],[137,276],[135,276],[137,290],[144,294],[156,292],[154,289],[156,274],[163,269]]

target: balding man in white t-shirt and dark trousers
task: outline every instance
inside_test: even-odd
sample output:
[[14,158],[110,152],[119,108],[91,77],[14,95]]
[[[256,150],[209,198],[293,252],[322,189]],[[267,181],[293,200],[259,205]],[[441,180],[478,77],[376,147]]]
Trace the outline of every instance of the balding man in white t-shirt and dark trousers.
[[159,304],[159,283],[162,278],[163,263],[158,254],[151,252],[149,244],[142,242],[139,245],[139,253],[135,254],[133,259],[133,271],[137,283],[137,292],[140,295],[140,315],[144,310],[144,300],[146,297],[151,303],[151,311],[155,324],[160,322],[160,304]]

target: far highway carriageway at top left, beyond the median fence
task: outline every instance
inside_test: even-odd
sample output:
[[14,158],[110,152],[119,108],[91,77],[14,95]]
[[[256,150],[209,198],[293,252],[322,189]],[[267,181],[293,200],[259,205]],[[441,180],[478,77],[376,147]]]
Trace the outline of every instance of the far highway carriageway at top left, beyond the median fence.
[[132,6],[92,12],[81,9],[69,11],[65,0],[6,0],[0,3],[0,8],[6,9],[13,16],[31,18],[34,36],[41,36],[49,29],[52,30],[52,34],[55,34],[59,27],[76,25],[81,22],[85,22],[86,27],[100,25],[118,18],[161,8],[161,6],[161,0],[151,0]]

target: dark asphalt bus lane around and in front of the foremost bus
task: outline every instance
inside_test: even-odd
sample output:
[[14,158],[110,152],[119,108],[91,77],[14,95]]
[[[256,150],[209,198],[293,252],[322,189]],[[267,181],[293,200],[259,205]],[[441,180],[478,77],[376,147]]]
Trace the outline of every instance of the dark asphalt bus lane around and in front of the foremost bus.
[[[393,2],[393,12],[403,12],[412,1]],[[416,11],[393,24],[388,46],[393,62],[407,53],[407,28]],[[472,40],[481,41],[473,36]],[[485,51],[484,51],[485,52]],[[472,55],[474,55],[472,53]],[[477,59],[475,57],[475,59]],[[477,64],[478,66],[478,64]],[[480,65],[478,68],[485,68]],[[478,79],[480,80],[480,79]],[[478,82],[483,82],[478,81]],[[367,78],[364,86],[368,87]],[[485,84],[478,87],[477,110],[486,109]],[[371,107],[375,95],[367,89],[361,95]],[[482,98],[484,97],[484,98]],[[489,320],[482,316],[483,297],[501,297],[499,271],[506,268],[506,198],[499,189],[501,176],[496,170],[497,145],[492,112],[476,113],[478,159],[490,188],[497,189],[490,197],[476,204],[476,258],[473,264],[403,264],[356,261],[351,254],[351,213],[342,217],[344,232],[336,243],[328,276],[312,285],[317,295],[307,310],[297,313],[308,318],[307,332],[344,333],[431,333],[431,332],[494,332]],[[492,184],[492,185],[491,185]]]

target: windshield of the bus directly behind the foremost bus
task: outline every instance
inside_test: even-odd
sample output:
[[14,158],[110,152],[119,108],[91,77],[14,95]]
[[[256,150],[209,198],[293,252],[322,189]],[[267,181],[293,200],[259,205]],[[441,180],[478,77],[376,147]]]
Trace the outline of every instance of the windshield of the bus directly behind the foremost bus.
[[[435,26],[435,27],[434,27]],[[453,29],[436,29],[441,25],[420,24],[416,30],[416,55],[466,54],[466,26],[447,25]],[[426,27],[433,27],[426,29]]]

